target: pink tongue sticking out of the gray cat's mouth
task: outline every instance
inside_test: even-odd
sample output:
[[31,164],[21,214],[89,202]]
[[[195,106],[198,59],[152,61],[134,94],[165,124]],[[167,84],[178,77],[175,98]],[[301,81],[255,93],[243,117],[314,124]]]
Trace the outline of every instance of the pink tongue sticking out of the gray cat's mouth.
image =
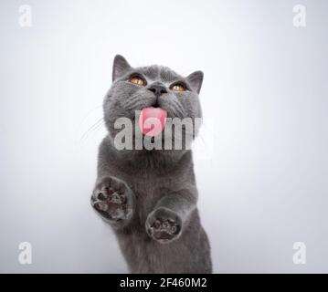
[[139,128],[146,136],[156,136],[165,126],[166,110],[160,108],[144,108],[139,117]]

